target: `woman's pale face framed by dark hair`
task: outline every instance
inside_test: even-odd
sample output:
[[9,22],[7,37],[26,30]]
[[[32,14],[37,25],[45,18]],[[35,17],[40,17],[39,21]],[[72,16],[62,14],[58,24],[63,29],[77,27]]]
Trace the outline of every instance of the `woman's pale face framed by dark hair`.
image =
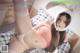
[[59,20],[56,22],[56,27],[58,29],[64,29],[66,27],[65,21],[66,17],[64,15],[60,16]]

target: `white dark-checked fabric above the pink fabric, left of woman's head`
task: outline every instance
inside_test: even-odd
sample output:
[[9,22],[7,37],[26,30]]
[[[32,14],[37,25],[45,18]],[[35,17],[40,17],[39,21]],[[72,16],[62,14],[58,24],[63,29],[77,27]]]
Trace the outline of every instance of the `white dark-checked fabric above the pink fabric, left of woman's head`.
[[43,9],[38,10],[38,14],[32,18],[32,26],[36,26],[44,22],[48,17],[48,14]]

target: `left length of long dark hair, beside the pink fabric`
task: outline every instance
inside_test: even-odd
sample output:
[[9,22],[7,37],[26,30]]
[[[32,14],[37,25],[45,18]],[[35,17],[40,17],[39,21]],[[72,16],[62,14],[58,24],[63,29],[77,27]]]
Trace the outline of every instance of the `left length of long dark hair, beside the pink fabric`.
[[55,50],[55,48],[58,45],[58,32],[56,31],[54,24],[51,25],[51,43],[48,48],[46,48],[46,51],[52,52]]

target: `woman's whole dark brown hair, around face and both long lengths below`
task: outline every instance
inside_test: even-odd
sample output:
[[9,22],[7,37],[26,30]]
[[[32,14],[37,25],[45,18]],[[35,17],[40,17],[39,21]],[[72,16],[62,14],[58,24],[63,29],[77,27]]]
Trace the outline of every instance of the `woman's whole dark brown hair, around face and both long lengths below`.
[[[65,16],[67,18],[65,24],[66,26],[68,26],[71,21],[71,16],[66,12],[62,12],[61,14],[59,14],[59,17],[61,16]],[[57,21],[60,19],[59,17]],[[51,39],[50,47],[47,48],[47,51],[53,52],[56,49],[56,47],[58,47],[63,43],[65,39],[66,31],[57,31],[54,24],[52,24],[51,34],[52,34],[52,39]]]

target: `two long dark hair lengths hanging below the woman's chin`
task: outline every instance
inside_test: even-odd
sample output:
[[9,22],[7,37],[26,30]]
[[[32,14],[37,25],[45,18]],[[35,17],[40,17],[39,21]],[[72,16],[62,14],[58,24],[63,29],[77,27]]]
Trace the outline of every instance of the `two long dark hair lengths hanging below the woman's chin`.
[[51,34],[52,34],[52,39],[50,46],[46,48],[46,51],[53,52],[56,47],[62,44],[64,38],[65,38],[65,31],[57,31],[56,28],[54,27],[54,24],[51,25]]

